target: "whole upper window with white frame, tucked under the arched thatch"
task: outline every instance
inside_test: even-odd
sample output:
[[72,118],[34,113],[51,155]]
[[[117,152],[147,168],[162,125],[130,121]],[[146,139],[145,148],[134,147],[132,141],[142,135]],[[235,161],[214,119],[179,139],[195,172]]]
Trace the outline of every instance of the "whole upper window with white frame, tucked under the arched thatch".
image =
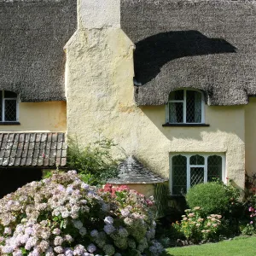
[[175,90],[169,96],[166,121],[169,124],[204,123],[203,94],[198,90]]

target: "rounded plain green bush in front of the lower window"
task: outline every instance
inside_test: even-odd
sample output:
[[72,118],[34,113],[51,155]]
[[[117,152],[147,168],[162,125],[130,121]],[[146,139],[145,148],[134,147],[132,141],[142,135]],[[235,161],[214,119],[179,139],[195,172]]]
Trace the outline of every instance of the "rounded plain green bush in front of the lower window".
[[200,183],[189,189],[186,200],[190,208],[201,207],[202,214],[211,213],[225,215],[230,212],[232,202],[237,201],[233,197],[233,189],[222,183]]

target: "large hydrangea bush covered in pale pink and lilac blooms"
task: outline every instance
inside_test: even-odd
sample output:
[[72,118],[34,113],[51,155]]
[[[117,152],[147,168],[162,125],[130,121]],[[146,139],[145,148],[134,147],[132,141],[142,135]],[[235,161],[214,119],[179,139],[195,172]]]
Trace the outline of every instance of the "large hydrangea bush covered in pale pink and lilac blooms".
[[125,186],[98,191],[55,172],[0,200],[0,254],[159,255],[153,205]]

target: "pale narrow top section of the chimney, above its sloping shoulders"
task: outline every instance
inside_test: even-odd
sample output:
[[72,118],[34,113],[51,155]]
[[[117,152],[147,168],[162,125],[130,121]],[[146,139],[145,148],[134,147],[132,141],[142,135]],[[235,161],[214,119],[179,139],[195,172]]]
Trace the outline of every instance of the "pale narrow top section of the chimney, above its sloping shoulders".
[[79,29],[120,27],[120,0],[78,0]]

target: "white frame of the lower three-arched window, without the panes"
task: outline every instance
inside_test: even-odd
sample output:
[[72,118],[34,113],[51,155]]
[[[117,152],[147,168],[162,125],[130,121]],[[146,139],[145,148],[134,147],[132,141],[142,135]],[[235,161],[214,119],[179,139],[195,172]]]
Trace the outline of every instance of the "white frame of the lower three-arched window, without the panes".
[[[225,154],[224,153],[175,153],[175,154],[170,154],[170,178],[169,178],[169,188],[170,191],[172,192],[172,157],[173,156],[177,156],[177,155],[182,155],[185,156],[187,158],[187,191],[190,189],[190,168],[191,167],[203,167],[204,168],[204,183],[207,183],[207,165],[208,165],[208,157],[212,156],[212,155],[218,155],[221,156],[222,158],[222,182],[226,183],[226,170],[225,170],[225,166],[226,166],[226,159],[225,159]],[[189,160],[190,157],[193,155],[200,155],[203,156],[205,159],[205,164],[204,165],[190,165],[189,164]]]

